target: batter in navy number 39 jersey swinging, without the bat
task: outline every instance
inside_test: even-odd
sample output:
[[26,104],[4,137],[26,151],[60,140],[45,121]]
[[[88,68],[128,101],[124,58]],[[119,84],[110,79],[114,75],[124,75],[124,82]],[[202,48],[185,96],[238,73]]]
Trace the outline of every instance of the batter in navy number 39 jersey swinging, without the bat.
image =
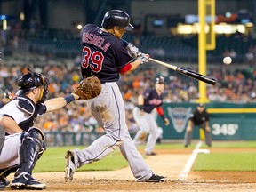
[[86,102],[91,108],[92,116],[106,133],[92,142],[88,148],[68,150],[65,178],[67,181],[73,180],[77,168],[99,161],[116,148],[120,148],[136,181],[164,181],[163,176],[156,175],[148,167],[128,132],[124,100],[116,84],[120,74],[129,74],[142,62],[148,62],[149,55],[140,54],[138,48],[126,44],[122,39],[124,33],[133,28],[130,16],[126,12],[107,12],[101,25],[102,28],[87,24],[81,30],[81,73],[83,77],[100,78],[102,92],[98,97]]

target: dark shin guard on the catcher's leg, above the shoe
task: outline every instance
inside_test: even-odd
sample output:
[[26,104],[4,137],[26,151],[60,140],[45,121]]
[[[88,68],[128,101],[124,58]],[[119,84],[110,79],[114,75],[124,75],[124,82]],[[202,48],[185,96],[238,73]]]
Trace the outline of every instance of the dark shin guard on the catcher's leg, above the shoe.
[[15,177],[22,172],[32,174],[38,157],[44,152],[44,134],[36,127],[32,127],[24,134],[20,147],[20,169],[15,172]]

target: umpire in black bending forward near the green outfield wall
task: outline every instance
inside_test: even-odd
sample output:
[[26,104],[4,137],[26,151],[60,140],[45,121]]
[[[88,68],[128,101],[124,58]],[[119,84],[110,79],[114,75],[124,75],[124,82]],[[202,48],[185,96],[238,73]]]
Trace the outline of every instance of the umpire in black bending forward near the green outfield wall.
[[188,126],[185,133],[185,148],[190,145],[192,140],[193,126],[199,126],[200,129],[204,130],[205,143],[209,147],[212,146],[211,128],[209,126],[210,116],[204,108],[204,103],[199,103],[196,109],[190,114],[188,119]]

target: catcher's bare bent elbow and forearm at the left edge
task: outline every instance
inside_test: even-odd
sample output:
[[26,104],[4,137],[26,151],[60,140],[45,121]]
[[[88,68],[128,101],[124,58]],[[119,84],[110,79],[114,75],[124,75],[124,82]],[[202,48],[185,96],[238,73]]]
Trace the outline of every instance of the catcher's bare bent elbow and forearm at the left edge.
[[10,116],[0,117],[0,125],[4,127],[5,132],[8,134],[22,132],[20,126]]

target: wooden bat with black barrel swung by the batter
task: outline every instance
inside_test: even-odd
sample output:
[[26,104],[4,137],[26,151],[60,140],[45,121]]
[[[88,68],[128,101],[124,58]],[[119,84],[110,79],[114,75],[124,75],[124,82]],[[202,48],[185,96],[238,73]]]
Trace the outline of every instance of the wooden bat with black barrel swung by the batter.
[[155,62],[157,64],[163,65],[163,66],[165,66],[167,68],[171,68],[172,70],[177,71],[177,72],[179,72],[182,75],[195,78],[196,80],[199,80],[199,81],[203,81],[206,84],[214,85],[214,84],[217,83],[216,79],[214,79],[212,77],[209,77],[209,76],[203,76],[202,74],[196,73],[196,71],[188,70],[187,68],[180,68],[180,67],[171,65],[169,63],[165,63],[165,62],[160,61],[160,60],[155,60],[153,58],[149,58],[149,60],[153,61],[153,62]]

